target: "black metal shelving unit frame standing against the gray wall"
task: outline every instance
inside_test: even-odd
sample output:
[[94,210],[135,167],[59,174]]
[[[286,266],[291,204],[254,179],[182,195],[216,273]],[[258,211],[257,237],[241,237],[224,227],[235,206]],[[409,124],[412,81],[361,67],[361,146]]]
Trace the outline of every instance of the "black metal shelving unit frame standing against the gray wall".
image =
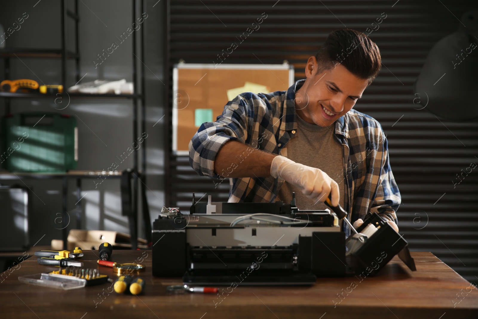
[[[131,0],[132,3],[132,19],[133,21],[136,19],[136,8],[139,5],[141,12],[144,9],[144,0]],[[50,49],[35,49],[35,48],[4,48],[0,49],[0,58],[4,59],[4,69],[5,69],[5,79],[11,78],[11,70],[10,70],[10,58],[11,57],[31,57],[31,58],[60,58],[61,59],[61,84],[63,87],[68,88],[66,83],[66,75],[67,75],[67,60],[68,59],[75,59],[75,78],[76,81],[80,80],[80,64],[79,64],[79,42],[78,42],[78,23],[79,23],[79,16],[78,16],[78,0],[75,0],[74,7],[75,12],[67,9],[66,0],[60,0],[61,4],[61,48],[50,48]],[[70,51],[67,49],[67,19],[71,18],[75,21],[75,51]],[[144,29],[141,30],[141,37],[140,37],[140,47],[141,47],[141,61],[144,61]],[[144,88],[144,66],[141,64],[141,74],[138,77],[138,62],[137,62],[137,33],[132,34],[133,38],[133,45],[132,45],[132,59],[133,59],[133,69],[132,69],[132,82],[134,87],[134,94],[81,94],[81,93],[63,93],[61,97],[69,97],[69,98],[90,98],[90,99],[131,99],[132,100],[132,111],[133,111],[133,141],[136,141],[139,137],[138,134],[138,106],[141,103],[141,129],[145,130],[145,115],[146,115],[146,104],[144,100],[145,95],[145,88]],[[137,94],[138,92],[138,78],[141,82],[141,94]],[[3,98],[5,101],[5,114],[11,113],[11,99],[44,99],[44,98],[58,98],[59,95],[53,94],[40,94],[40,93],[11,93],[11,92],[0,92],[0,98]],[[146,141],[144,142],[146,143]],[[142,161],[141,161],[141,170],[139,170],[138,165],[138,154],[134,152],[133,154],[133,167],[128,172],[131,176],[132,181],[132,196],[128,201],[128,205],[130,206],[128,211],[128,218],[130,224],[130,235],[131,235],[131,245],[132,249],[136,249],[138,242],[138,210],[139,210],[139,181],[141,181],[141,207],[142,207],[142,217],[145,226],[145,233],[146,239],[148,242],[151,242],[151,221],[149,215],[149,208],[146,199],[146,147],[143,145],[142,151]],[[123,172],[124,174],[124,172]],[[0,173],[0,180],[18,180],[18,179],[63,179],[63,214],[65,218],[65,213],[67,210],[67,181],[69,178],[76,179],[76,189],[77,189],[77,196],[81,191],[81,179],[82,178],[91,178],[92,176],[84,175],[84,174],[71,174],[71,173],[61,173],[61,174],[50,174],[50,173]],[[93,176],[97,177],[97,176]],[[123,187],[123,186],[122,186]],[[123,202],[124,208],[124,202]],[[123,209],[123,215],[125,215],[125,211]],[[65,220],[65,219],[64,219]],[[66,238],[67,233],[66,229],[63,231],[62,234],[63,242],[64,242],[64,249],[66,249]]]

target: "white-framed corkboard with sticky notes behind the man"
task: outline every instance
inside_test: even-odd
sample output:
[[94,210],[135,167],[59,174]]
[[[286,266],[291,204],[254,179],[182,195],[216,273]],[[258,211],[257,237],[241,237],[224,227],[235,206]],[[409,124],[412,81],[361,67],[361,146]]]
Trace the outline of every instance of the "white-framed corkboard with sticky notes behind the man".
[[[188,145],[198,127],[196,109],[212,109],[216,121],[228,103],[227,91],[253,82],[269,92],[287,90],[293,84],[293,66],[178,64],[173,69],[173,152],[189,154]],[[206,111],[203,114],[210,114]],[[196,123],[198,120],[196,119]]]

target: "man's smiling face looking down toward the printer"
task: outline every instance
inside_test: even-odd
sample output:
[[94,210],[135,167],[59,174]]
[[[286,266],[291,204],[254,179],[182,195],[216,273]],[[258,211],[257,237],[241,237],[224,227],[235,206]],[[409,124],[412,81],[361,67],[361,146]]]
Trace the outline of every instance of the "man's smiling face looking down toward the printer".
[[316,74],[318,65],[311,56],[305,66],[305,83],[295,92],[295,110],[306,122],[329,126],[351,110],[369,84],[336,64]]

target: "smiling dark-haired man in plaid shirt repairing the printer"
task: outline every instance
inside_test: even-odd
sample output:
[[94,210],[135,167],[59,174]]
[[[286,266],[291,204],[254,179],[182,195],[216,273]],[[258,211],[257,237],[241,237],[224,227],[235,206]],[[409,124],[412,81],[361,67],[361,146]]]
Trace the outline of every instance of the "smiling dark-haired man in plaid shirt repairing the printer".
[[203,123],[189,143],[190,165],[230,178],[229,202],[288,203],[294,191],[299,209],[325,209],[330,194],[355,226],[376,212],[398,231],[387,139],[378,121],[352,110],[380,65],[365,34],[331,32],[309,57],[305,80],[287,91],[241,93]]

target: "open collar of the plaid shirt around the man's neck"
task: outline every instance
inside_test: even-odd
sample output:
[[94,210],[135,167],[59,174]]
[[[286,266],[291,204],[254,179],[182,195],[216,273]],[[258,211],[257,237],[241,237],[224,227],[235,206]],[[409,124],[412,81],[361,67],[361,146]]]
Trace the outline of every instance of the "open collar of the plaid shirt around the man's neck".
[[[284,120],[282,121],[281,130],[282,131],[292,131],[297,129],[297,113],[295,112],[295,92],[301,88],[305,83],[305,79],[295,81],[295,83],[287,89],[286,100],[285,100],[285,115]],[[344,120],[344,116],[338,118],[335,121],[335,133],[348,137],[348,126],[347,122]]]

